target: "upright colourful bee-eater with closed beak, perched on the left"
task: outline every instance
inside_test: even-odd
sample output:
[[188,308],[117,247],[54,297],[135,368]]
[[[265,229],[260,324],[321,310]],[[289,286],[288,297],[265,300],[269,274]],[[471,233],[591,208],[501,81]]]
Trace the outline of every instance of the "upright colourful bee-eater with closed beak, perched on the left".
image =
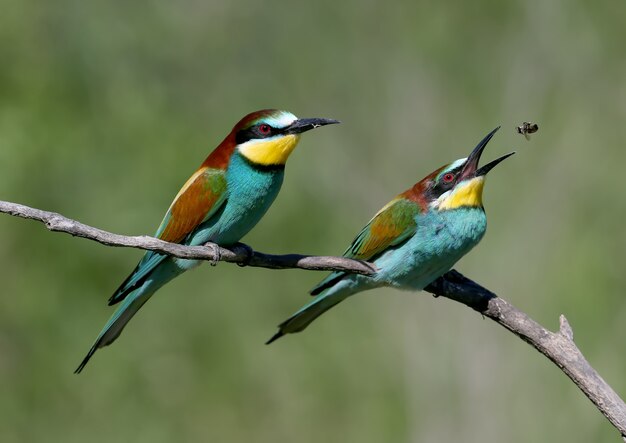
[[[290,112],[275,109],[246,115],[183,185],[156,237],[192,246],[207,242],[229,246],[238,242],[276,198],[285,163],[300,134],[334,123],[339,122],[298,119]],[[200,263],[146,252],[109,299],[109,305],[121,305],[75,372],[83,370],[98,348],[110,345],[120,335],[155,291]]]

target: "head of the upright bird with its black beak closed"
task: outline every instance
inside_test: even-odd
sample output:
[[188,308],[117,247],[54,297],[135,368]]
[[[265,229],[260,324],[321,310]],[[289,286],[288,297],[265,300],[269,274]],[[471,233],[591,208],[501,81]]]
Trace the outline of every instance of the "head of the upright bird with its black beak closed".
[[297,118],[291,112],[264,109],[242,118],[231,134],[236,149],[250,162],[281,166],[294,150],[300,134],[320,126],[339,123],[328,118]]

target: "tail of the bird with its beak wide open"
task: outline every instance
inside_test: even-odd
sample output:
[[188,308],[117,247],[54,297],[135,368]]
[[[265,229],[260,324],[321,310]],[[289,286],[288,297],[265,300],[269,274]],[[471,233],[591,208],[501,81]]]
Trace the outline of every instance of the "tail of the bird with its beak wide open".
[[294,334],[306,329],[317,317],[354,294],[355,291],[351,290],[350,283],[349,281],[342,280],[327,290],[325,294],[318,296],[311,303],[304,306],[278,325],[278,332],[265,342],[265,344],[269,345],[285,334]]

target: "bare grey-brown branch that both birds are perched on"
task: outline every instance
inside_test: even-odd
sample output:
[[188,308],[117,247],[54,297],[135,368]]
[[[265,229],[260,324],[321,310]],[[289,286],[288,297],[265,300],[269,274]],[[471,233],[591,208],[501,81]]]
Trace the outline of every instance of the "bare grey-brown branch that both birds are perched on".
[[[17,203],[0,201],[0,212],[38,220],[51,231],[95,240],[107,246],[139,248],[179,258],[208,260],[213,263],[226,261],[242,266],[271,269],[347,271],[364,275],[373,275],[376,272],[376,267],[371,263],[345,257],[271,255],[253,251],[243,244],[237,244],[232,248],[220,247],[213,243],[204,246],[183,246],[149,236],[128,237],[87,226],[54,212]],[[559,331],[551,332],[506,300],[454,270],[435,280],[425,290],[436,297],[442,296],[462,303],[489,317],[549,358],[596,405],[626,442],[626,404],[576,347],[572,328],[565,316],[560,317]]]

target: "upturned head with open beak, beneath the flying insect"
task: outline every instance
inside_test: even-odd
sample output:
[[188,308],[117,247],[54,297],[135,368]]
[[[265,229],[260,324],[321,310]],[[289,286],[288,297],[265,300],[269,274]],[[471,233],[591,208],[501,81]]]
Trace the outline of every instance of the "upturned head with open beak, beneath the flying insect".
[[439,211],[461,207],[482,208],[486,174],[502,160],[515,154],[511,152],[481,168],[478,167],[485,146],[498,129],[500,127],[487,134],[469,157],[437,169],[413,187],[411,191],[414,195],[419,195],[423,206]]

